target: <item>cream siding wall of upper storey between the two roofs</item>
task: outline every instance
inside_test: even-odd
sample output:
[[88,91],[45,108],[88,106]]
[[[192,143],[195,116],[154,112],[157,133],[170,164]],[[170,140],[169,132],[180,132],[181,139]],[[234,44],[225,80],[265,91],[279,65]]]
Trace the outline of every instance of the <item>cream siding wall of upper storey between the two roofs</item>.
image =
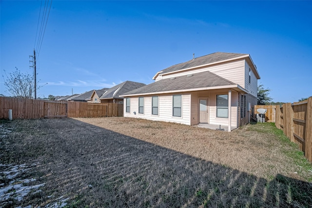
[[[249,69],[248,69],[249,70]],[[172,78],[176,76],[184,76],[188,74],[194,74],[204,71],[210,71],[215,73],[216,75],[223,77],[233,83],[239,84],[240,86],[245,86],[245,73],[246,73],[246,65],[245,60],[235,61],[235,62],[228,62],[214,66],[208,67],[201,67],[198,69],[192,69],[188,71],[183,71],[179,73],[168,74],[164,76],[157,76],[156,81],[161,79]],[[248,71],[249,73],[249,71]],[[255,77],[254,77],[255,78]]]

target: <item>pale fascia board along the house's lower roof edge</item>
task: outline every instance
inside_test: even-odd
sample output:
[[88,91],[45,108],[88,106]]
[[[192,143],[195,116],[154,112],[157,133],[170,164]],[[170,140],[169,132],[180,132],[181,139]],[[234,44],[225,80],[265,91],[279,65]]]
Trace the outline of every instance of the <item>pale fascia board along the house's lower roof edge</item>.
[[238,84],[224,85],[224,86],[213,86],[213,87],[202,87],[202,88],[192,88],[192,89],[179,89],[179,90],[170,90],[170,91],[162,91],[162,92],[148,92],[148,93],[140,93],[140,94],[131,94],[131,95],[120,95],[119,97],[133,97],[133,96],[141,96],[141,95],[155,95],[155,94],[167,94],[167,93],[178,93],[178,92],[192,92],[192,91],[202,91],[202,90],[213,90],[213,89],[226,89],[226,88],[238,88],[239,90],[248,93],[243,87]]

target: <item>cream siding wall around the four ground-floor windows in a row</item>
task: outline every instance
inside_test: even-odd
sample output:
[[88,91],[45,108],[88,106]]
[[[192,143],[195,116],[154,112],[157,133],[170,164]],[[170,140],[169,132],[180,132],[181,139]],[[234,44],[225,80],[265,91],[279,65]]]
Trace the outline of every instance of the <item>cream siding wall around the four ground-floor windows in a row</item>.
[[[181,117],[173,116],[173,95],[182,95]],[[158,96],[158,115],[152,115],[152,97]],[[130,98],[130,113],[126,112],[126,100],[124,100],[124,117],[143,118],[154,121],[175,122],[191,125],[191,94],[176,93],[166,95],[153,95],[144,97],[144,113],[138,113],[138,97]],[[134,114],[136,112],[136,114]]]

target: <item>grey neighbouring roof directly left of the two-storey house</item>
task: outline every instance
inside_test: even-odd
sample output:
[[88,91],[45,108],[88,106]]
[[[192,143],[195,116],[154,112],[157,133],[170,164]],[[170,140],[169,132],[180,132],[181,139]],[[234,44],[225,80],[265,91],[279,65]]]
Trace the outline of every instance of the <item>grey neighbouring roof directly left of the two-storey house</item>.
[[99,99],[122,99],[122,97],[119,97],[120,95],[123,95],[131,90],[137,89],[139,87],[145,86],[144,83],[136,83],[132,81],[126,81],[120,84],[117,84],[116,86],[113,86],[112,88],[108,89]]

